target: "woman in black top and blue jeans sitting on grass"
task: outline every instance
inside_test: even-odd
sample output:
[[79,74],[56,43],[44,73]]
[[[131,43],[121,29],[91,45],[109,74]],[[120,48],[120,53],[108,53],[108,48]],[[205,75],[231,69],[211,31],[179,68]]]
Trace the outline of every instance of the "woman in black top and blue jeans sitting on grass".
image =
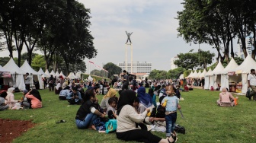
[[75,116],[75,124],[78,129],[91,128],[92,122],[97,119],[98,116],[101,116],[101,118],[105,117],[103,113],[94,107],[94,102],[97,100],[95,95],[94,90],[85,92],[82,105],[79,107]]

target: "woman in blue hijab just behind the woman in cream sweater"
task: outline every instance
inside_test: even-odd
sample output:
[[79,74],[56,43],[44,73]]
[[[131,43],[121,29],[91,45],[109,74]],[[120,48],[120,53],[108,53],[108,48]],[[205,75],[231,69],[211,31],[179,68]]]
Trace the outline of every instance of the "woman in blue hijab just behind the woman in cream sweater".
[[149,94],[146,94],[145,87],[138,88],[137,97],[139,98],[139,102],[142,103],[147,108],[152,106],[152,97]]

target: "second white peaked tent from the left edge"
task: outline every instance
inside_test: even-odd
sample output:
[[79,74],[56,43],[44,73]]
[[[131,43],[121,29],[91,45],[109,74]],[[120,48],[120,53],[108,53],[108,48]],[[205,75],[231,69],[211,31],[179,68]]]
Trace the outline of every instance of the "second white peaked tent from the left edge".
[[[37,71],[35,71],[31,66],[28,64],[27,60],[21,65],[21,69],[23,71],[27,71],[31,77],[30,80],[30,86],[34,84],[34,81],[38,81],[39,83],[39,88],[43,89],[43,82],[42,82],[42,75],[40,75]],[[32,76],[31,76],[32,75]]]

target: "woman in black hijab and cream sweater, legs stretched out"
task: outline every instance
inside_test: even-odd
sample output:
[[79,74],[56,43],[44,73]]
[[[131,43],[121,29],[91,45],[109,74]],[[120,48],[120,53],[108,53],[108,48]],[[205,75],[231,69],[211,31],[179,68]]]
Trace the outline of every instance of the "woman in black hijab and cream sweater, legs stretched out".
[[149,109],[139,114],[133,108],[133,102],[136,99],[134,91],[126,90],[121,93],[117,105],[117,138],[124,141],[142,141],[142,142],[174,142],[175,137],[167,139],[159,138],[151,132],[136,128],[136,123],[142,122]]

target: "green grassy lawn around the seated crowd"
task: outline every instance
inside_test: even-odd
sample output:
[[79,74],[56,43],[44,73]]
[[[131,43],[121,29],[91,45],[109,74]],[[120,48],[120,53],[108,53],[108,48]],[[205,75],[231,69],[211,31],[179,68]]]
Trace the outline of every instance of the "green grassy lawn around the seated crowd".
[[[40,94],[43,99],[41,109],[6,110],[0,113],[2,119],[33,119],[37,123],[37,126],[14,139],[14,142],[124,142],[118,140],[115,133],[77,129],[75,114],[79,106],[69,106],[67,101],[60,101],[58,95],[47,90],[40,90]],[[16,100],[21,98],[21,93],[14,95]],[[178,134],[178,142],[255,141],[256,102],[238,96],[238,106],[219,107],[216,106],[219,91],[195,89],[181,95],[185,99],[180,102],[184,119],[178,113],[177,123],[186,128],[186,134]],[[102,97],[98,95],[99,100]],[[60,119],[67,122],[56,124]],[[163,132],[154,134],[165,138]]]

